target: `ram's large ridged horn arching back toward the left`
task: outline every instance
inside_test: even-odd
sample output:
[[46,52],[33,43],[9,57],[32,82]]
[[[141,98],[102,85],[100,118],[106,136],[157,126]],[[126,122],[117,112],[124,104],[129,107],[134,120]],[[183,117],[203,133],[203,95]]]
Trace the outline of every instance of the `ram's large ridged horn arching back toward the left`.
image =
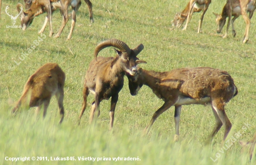
[[95,50],[94,50],[94,58],[97,60],[97,55],[98,53],[109,46],[113,46],[117,49],[119,49],[121,52],[123,53],[127,53],[130,54],[131,53],[131,49],[129,48],[129,46],[127,44],[125,44],[124,42],[118,40],[118,39],[108,39],[105,41],[102,41],[101,43],[99,43]]

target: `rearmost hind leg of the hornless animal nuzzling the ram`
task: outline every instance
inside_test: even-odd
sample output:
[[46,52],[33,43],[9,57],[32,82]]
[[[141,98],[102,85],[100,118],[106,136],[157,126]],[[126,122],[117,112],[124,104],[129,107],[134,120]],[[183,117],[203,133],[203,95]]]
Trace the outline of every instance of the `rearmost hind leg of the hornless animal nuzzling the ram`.
[[[219,119],[221,120],[222,125],[225,126],[224,137],[223,137],[223,141],[224,141],[229,134],[232,124],[229,121],[227,114],[225,113],[224,102],[222,102],[221,99],[213,100],[212,107],[216,111],[217,115],[219,116]],[[218,129],[216,129],[216,133],[217,133],[217,130]]]

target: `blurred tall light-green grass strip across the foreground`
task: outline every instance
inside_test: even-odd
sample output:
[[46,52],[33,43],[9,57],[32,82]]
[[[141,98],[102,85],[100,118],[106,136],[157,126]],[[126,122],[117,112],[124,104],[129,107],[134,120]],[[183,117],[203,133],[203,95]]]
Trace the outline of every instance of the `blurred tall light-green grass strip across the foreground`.
[[[173,137],[154,132],[143,136],[140,130],[127,126],[108,131],[98,126],[76,126],[72,122],[58,124],[58,114],[52,112],[45,120],[36,118],[34,112],[21,112],[11,116],[6,104],[0,104],[0,162],[4,165],[69,165],[69,164],[104,164],[104,165],[247,165],[246,155],[240,155],[235,143],[223,153],[221,146],[203,146],[195,136],[184,137],[173,142]],[[8,117],[6,117],[8,116]],[[4,126],[4,127],[3,127]],[[196,131],[200,134],[200,131]],[[230,144],[232,142],[230,141]],[[215,154],[220,157],[216,160]],[[6,157],[74,157],[74,161],[6,161]],[[78,157],[95,158],[95,161],[79,161]],[[115,161],[114,158],[139,158],[136,161]],[[212,159],[216,162],[213,162]],[[99,160],[101,159],[101,160]],[[111,160],[104,160],[111,159]]]

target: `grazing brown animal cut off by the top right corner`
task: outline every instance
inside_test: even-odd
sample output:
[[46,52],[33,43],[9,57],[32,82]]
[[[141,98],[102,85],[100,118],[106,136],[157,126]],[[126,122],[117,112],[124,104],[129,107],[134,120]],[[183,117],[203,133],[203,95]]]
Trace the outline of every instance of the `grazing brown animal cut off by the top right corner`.
[[[222,31],[222,28],[226,23],[227,17],[229,17],[227,30],[225,32],[225,35],[222,38],[228,37],[230,23],[232,25],[232,35],[233,37],[235,37],[236,31],[234,28],[234,21],[240,15],[242,15],[246,23],[243,43],[246,43],[249,40],[250,19],[253,15],[255,8],[256,8],[255,0],[227,0],[227,3],[222,9],[222,13],[221,14],[214,13],[214,15],[216,16],[217,33],[220,33]],[[249,12],[249,17],[247,15],[247,12]],[[233,16],[233,19],[231,20],[232,16]]]

